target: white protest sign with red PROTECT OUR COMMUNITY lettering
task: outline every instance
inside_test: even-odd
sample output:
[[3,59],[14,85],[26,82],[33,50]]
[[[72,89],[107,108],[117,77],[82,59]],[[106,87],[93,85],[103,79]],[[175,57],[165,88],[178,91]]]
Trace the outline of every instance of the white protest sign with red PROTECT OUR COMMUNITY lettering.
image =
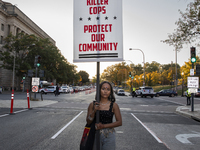
[[74,0],[73,62],[123,61],[122,0]]

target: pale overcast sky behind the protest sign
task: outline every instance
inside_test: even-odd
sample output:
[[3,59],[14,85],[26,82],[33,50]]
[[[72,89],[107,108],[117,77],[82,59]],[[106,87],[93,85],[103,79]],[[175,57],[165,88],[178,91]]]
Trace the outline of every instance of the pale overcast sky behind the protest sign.
[[[97,74],[96,62],[73,63],[73,0],[4,0],[16,5],[25,15],[56,41],[62,55],[92,78]],[[175,51],[161,40],[168,38],[177,28],[178,10],[185,12],[194,0],[122,0],[123,58],[127,64],[143,65],[145,62],[160,64],[175,63]],[[177,63],[182,66],[189,60],[190,47],[185,45],[177,54]],[[198,53],[198,49],[197,49]],[[120,62],[100,62],[100,74],[108,66]]]

